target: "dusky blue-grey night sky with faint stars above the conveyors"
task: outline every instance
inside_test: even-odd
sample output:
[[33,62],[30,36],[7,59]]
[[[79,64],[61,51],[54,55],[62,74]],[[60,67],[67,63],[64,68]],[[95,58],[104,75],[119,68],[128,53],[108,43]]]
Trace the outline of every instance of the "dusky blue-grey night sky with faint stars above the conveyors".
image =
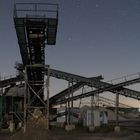
[[[46,64],[87,77],[103,75],[105,81],[140,72],[140,0],[50,1],[59,4],[59,25],[56,45],[46,47]],[[0,3],[2,76],[14,74],[15,62],[21,61],[13,4],[13,0],[1,0]],[[63,89],[61,83],[53,84],[53,92]],[[139,85],[132,88],[140,91]],[[139,104],[134,102],[131,100],[133,105]]]

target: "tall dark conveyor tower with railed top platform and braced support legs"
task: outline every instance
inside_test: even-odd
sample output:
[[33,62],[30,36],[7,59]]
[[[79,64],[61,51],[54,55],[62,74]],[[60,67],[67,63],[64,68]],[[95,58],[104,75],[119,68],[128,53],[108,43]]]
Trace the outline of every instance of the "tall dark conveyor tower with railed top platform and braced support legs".
[[24,96],[24,131],[28,114],[35,108],[47,112],[49,129],[49,78],[47,83],[48,103],[44,102],[45,46],[55,45],[58,24],[58,5],[48,3],[16,3],[14,22],[25,68],[26,93]]

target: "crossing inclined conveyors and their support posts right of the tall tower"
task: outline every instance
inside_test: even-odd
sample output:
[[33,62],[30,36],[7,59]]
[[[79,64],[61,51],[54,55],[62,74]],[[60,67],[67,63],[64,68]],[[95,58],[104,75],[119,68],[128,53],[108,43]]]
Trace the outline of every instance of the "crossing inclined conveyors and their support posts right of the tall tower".
[[[85,78],[85,77],[81,77],[78,75],[74,75],[74,74],[70,74],[70,73],[66,73],[66,72],[62,72],[62,71],[58,71],[58,70],[54,70],[54,69],[53,70],[51,69],[50,71],[51,71],[50,72],[51,76],[60,78],[60,79],[65,79],[69,83],[67,89],[63,90],[62,92],[60,92],[60,93],[56,94],[55,96],[53,96],[52,98],[50,98],[50,103],[52,105],[66,104],[65,115],[66,115],[66,123],[68,123],[68,124],[71,123],[70,115],[73,115],[72,114],[73,105],[71,105],[71,107],[70,107],[70,102],[72,102],[72,104],[73,104],[74,100],[89,97],[89,96],[91,96],[91,98],[92,98],[94,95],[97,96],[97,95],[99,95],[99,93],[103,93],[104,91],[111,91],[111,92],[115,93],[117,97],[119,96],[119,94],[121,94],[121,95],[131,97],[134,99],[140,99],[140,92],[133,91],[133,90],[123,87],[123,86],[128,86],[131,84],[139,83],[140,82],[139,73],[119,78],[119,82],[117,82],[117,83],[116,83],[116,81],[118,79],[111,80],[111,84],[110,84],[110,83],[100,81],[100,79],[101,79],[100,76],[94,77],[94,78]],[[73,81],[76,82],[75,85],[73,85]],[[72,83],[71,87],[70,87],[70,82]],[[115,83],[115,85],[114,85],[114,83]],[[97,90],[91,91],[89,93],[84,93],[84,94],[81,94],[78,96],[73,96],[73,92],[78,90],[79,88],[81,88],[83,85],[95,87],[95,88],[97,88]],[[72,96],[70,96],[70,95],[72,95]],[[117,97],[116,97],[116,102],[117,102],[116,103],[116,122],[118,122],[118,104],[119,104],[119,100]],[[93,98],[92,98],[92,101],[93,101]],[[116,125],[118,125],[118,123],[116,123]]]

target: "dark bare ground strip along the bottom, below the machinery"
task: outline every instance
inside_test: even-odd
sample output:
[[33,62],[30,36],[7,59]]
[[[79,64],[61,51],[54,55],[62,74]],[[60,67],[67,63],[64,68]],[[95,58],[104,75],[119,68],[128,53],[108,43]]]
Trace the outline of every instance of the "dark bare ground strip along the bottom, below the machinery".
[[61,128],[52,128],[47,131],[41,128],[28,128],[26,133],[22,131],[13,134],[0,133],[0,140],[140,140],[140,133],[122,130],[119,134],[112,132],[89,133],[87,129],[77,128],[66,132]]

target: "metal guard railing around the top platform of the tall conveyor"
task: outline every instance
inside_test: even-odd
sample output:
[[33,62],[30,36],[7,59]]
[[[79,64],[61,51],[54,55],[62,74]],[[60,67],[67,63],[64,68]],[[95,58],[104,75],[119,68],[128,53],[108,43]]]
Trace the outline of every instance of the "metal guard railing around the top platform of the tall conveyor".
[[58,8],[58,4],[16,3],[14,5],[14,17],[57,18]]

